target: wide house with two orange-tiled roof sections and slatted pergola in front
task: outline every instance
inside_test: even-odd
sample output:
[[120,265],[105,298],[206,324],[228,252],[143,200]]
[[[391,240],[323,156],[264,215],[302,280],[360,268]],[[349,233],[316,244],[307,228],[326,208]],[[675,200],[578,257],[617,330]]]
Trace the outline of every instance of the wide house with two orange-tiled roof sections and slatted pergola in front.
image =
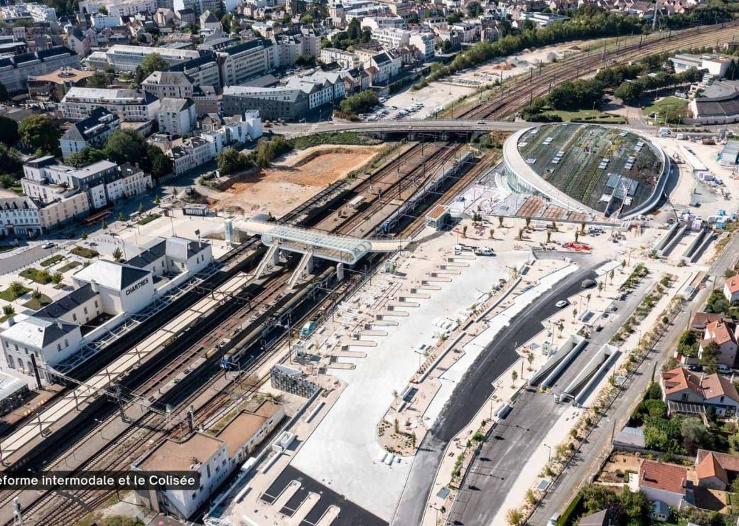
[[684,367],[661,373],[662,400],[672,413],[704,414],[713,407],[719,417],[728,417],[739,410],[739,392],[728,378],[695,375]]

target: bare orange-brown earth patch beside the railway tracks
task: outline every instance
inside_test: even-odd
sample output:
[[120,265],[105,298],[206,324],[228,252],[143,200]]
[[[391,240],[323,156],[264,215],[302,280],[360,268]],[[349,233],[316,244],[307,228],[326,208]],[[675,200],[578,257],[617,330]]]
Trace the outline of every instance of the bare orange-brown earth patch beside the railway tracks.
[[382,146],[313,146],[293,151],[270,168],[254,169],[238,177],[211,208],[243,210],[245,214],[281,216],[318,194],[364,163]]

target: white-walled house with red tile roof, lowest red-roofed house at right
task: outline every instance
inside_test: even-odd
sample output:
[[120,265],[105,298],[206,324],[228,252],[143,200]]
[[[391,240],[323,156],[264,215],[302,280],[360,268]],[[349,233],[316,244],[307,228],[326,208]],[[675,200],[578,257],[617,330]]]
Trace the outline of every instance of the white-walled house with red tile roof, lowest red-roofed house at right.
[[677,510],[692,506],[695,502],[693,483],[688,479],[687,468],[681,465],[644,460],[639,468],[636,486],[647,499],[653,502],[660,500]]

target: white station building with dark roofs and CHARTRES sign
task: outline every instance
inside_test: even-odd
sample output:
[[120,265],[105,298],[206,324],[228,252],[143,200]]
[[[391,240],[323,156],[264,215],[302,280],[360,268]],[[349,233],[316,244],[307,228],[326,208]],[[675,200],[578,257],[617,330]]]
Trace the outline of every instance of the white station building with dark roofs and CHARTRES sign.
[[67,296],[33,315],[7,321],[0,332],[0,369],[33,384],[33,355],[41,382],[50,383],[49,369],[211,262],[211,245],[175,237],[160,239],[126,263],[99,259],[89,264],[72,276],[75,290]]

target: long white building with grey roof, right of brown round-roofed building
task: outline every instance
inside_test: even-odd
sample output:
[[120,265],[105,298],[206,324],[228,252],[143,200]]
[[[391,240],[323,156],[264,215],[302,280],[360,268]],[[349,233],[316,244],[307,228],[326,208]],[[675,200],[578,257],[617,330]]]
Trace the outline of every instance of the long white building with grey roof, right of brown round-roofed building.
[[61,100],[61,111],[65,118],[82,120],[100,107],[118,115],[123,122],[146,122],[157,116],[160,101],[143,89],[69,89]]

